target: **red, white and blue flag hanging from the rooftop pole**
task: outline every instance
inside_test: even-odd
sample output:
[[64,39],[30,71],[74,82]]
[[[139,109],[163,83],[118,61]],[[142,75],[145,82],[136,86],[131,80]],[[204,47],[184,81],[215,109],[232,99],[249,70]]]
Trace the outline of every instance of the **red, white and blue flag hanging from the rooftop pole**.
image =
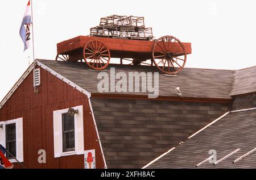
[[27,3],[27,8],[23,16],[22,24],[20,26],[19,35],[22,38],[24,43],[24,51],[29,48],[31,33],[30,33],[30,24],[32,23],[31,19],[31,6],[30,1]]

